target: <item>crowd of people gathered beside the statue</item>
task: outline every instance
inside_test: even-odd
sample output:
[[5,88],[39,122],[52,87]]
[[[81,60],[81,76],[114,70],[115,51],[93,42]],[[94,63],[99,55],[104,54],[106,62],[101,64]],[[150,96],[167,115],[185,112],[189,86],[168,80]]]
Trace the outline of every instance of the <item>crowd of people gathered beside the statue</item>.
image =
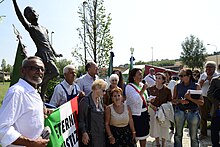
[[[54,88],[49,103],[59,107],[78,96],[80,147],[135,147],[137,142],[145,147],[148,136],[155,138],[157,147],[165,147],[172,133],[174,146],[181,147],[186,122],[191,146],[199,147],[199,139],[207,136],[209,114],[212,144],[218,147],[220,76],[216,67],[208,61],[201,75],[181,69],[179,81],[172,80],[169,71],[150,68],[143,77],[142,69],[133,68],[125,83],[119,70],[112,72],[109,82],[100,79],[93,61],[85,66],[87,73],[77,79],[74,66],[66,65],[64,80]],[[41,147],[49,142],[41,133],[44,118],[52,112],[43,106],[37,90],[44,72],[41,58],[31,56],[23,61],[22,77],[9,88],[0,109],[4,118],[0,119],[2,146]]]

